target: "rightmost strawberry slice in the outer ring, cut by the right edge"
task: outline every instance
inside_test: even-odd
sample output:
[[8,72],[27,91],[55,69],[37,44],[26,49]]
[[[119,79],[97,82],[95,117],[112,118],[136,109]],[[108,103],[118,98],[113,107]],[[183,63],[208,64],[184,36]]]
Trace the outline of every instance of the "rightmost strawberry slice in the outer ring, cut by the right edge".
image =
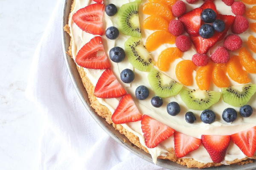
[[253,157],[256,150],[256,126],[231,135],[231,139],[244,155]]

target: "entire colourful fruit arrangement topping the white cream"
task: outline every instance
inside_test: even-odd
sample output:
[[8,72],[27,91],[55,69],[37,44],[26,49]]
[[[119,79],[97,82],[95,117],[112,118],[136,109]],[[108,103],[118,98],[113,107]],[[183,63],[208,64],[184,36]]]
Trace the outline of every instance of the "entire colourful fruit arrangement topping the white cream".
[[[219,14],[214,0],[207,0],[201,7],[186,12],[186,4],[181,0],[149,0],[143,4],[143,14],[148,17],[143,20],[143,28],[153,30],[145,45],[143,44],[139,6],[140,0],[126,3],[119,9],[114,4],[105,6],[102,0],[94,0],[96,3],[81,8],[73,15],[73,22],[79,28],[94,35],[105,35],[110,40],[118,39],[119,34],[130,36],[124,44],[125,49],[114,47],[109,52],[112,62],[122,62],[125,57],[138,71],[145,71],[148,82],[155,96],[151,99],[151,105],[159,108],[163,105],[163,99],[180,95],[187,108],[200,110],[201,121],[211,124],[215,121],[215,113],[209,108],[217,103],[221,96],[224,102],[234,107],[240,107],[240,115],[249,117],[253,108],[246,105],[256,92],[255,84],[251,82],[249,74],[256,74],[256,61],[252,53],[256,53],[256,37],[248,38],[247,48],[242,47],[243,42],[239,34],[249,28],[256,32],[256,23],[250,23],[243,16],[256,20],[256,6],[245,8],[244,3],[256,4],[255,0],[222,0],[231,6],[234,15]],[[195,3],[198,0],[186,0]],[[118,28],[109,27],[103,30],[103,15],[116,15]],[[177,17],[177,19],[175,19]],[[233,34],[227,35],[231,30]],[[141,121],[141,129],[145,137],[145,145],[148,148],[156,147],[160,142],[174,135],[175,155],[177,158],[186,156],[196,150],[201,144],[205,147],[213,162],[221,162],[224,159],[230,141],[233,141],[248,157],[252,157],[256,151],[256,127],[233,135],[202,135],[201,139],[179,133],[171,127],[140,113],[131,94],[127,94],[121,83],[111,70],[111,61],[104,51],[102,38],[94,37],[85,44],[76,56],[76,63],[84,68],[106,69],[99,78],[94,95],[98,98],[121,97],[119,105],[112,115],[115,124]],[[218,46],[208,57],[208,51],[217,42],[224,40],[223,46]],[[151,52],[157,50],[163,44],[175,44],[163,50],[157,61],[151,57]],[[194,45],[196,54],[190,60],[178,62],[175,68],[170,68],[172,62],[180,59],[186,51]],[[239,51],[239,55],[230,56],[230,51]],[[154,67],[154,65],[156,67]],[[158,68],[158,69],[157,69]],[[163,72],[175,70],[177,81]],[[185,86],[193,84],[193,72],[196,71],[196,84],[198,89],[189,89]],[[148,72],[148,73],[146,73]],[[120,78],[124,83],[134,81],[136,74],[131,69],[121,71]],[[243,84],[231,86],[229,78]],[[221,92],[209,91],[211,83],[221,88]],[[184,86],[185,85],[185,86]],[[137,87],[135,96],[138,100],[148,98],[150,91],[144,85]],[[166,113],[176,116],[180,113],[180,105],[170,102]],[[238,114],[234,108],[226,108],[222,113],[225,122],[233,122]],[[192,124],[196,121],[192,111],[185,114],[186,122]]]

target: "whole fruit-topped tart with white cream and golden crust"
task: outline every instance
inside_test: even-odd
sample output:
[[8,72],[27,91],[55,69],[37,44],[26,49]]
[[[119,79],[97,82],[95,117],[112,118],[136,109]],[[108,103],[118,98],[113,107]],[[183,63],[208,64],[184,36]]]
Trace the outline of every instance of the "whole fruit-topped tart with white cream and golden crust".
[[73,0],[91,107],[154,163],[256,159],[255,0]]

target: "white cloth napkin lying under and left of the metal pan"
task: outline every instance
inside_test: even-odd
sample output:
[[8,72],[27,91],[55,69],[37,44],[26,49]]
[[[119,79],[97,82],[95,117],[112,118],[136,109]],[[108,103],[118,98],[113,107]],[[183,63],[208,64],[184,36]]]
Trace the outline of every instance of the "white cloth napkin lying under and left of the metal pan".
[[63,0],[52,3],[56,7],[35,51],[27,88],[45,122],[41,170],[163,170],[123,148],[87,113],[64,62]]

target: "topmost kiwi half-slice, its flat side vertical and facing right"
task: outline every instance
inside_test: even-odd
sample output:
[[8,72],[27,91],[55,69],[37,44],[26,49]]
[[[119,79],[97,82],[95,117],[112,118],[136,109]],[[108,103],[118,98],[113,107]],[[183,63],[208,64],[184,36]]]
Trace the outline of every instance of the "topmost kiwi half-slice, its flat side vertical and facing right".
[[119,8],[117,13],[118,28],[123,34],[133,37],[141,37],[139,20],[140,1],[126,3]]

